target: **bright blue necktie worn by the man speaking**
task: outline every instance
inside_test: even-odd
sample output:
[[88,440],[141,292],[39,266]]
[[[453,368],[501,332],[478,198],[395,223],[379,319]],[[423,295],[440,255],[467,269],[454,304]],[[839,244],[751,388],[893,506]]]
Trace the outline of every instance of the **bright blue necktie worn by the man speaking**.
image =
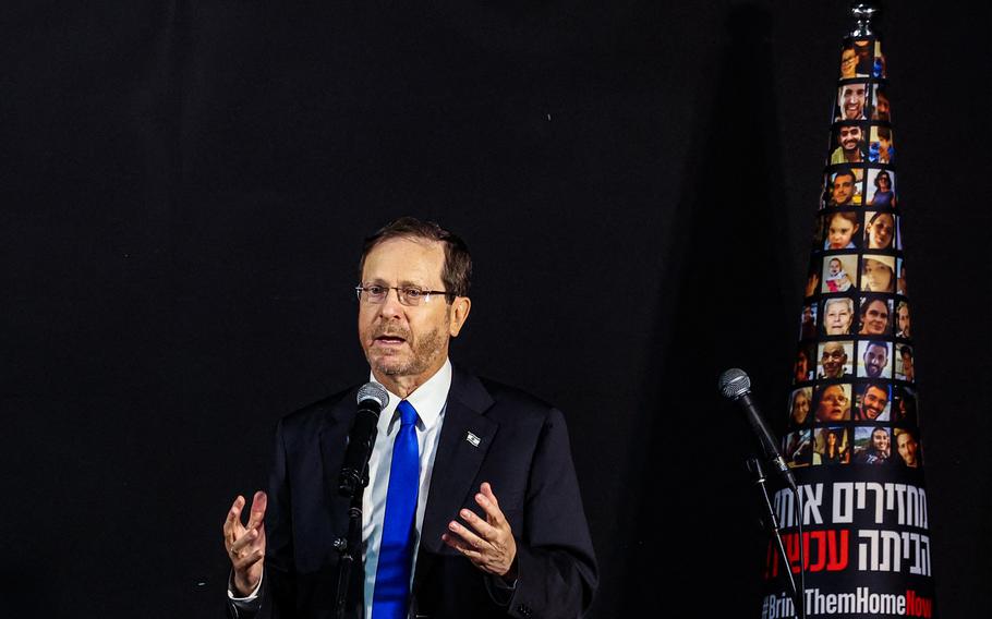
[[400,430],[392,442],[386,517],[372,595],[373,619],[406,619],[410,602],[420,449],[416,446],[416,411],[407,400],[401,401],[397,410],[400,413]]

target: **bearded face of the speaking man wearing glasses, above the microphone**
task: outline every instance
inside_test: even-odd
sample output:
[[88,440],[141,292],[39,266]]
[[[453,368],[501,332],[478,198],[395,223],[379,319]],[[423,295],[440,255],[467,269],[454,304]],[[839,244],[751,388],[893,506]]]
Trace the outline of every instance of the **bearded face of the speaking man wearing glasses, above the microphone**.
[[[441,243],[389,239],[365,257],[362,284],[445,290],[444,260]],[[439,294],[407,306],[390,290],[380,304],[359,303],[359,340],[373,375],[387,387],[403,379],[419,386],[433,376],[448,356],[449,338],[460,328],[461,319]]]

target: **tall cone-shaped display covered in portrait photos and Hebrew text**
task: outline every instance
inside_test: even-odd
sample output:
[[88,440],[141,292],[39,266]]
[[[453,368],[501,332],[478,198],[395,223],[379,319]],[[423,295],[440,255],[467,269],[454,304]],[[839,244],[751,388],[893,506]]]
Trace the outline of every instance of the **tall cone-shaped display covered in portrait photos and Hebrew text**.
[[[830,144],[782,440],[801,514],[788,489],[774,508],[808,617],[935,617],[904,179],[882,43],[856,32],[832,95],[824,81]],[[798,616],[785,570],[771,539],[763,619]]]

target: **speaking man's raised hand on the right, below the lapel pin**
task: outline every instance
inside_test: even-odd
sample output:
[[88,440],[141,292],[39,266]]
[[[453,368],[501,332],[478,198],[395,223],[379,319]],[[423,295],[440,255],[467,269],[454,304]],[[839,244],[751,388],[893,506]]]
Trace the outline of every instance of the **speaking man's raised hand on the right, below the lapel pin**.
[[471,510],[463,509],[459,515],[468,526],[452,520],[441,539],[482,571],[507,581],[516,580],[513,559],[517,558],[517,542],[488,482],[479,486],[475,502],[485,512],[486,519],[482,520]]

